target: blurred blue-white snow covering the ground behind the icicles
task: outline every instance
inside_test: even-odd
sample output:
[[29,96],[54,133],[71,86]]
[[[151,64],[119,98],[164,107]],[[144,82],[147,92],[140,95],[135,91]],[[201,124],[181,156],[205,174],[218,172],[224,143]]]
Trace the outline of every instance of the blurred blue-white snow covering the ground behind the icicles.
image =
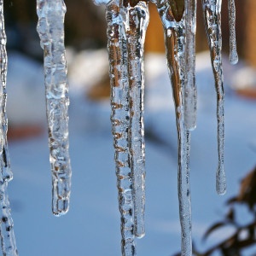
[[[137,255],[170,256],[177,253],[180,247],[177,133],[172,89],[165,56],[150,54],[145,61],[147,233],[143,239],[137,240]],[[66,216],[56,218],[51,214],[46,129],[41,137],[9,142],[15,176],[9,183],[9,200],[21,256],[120,255],[109,102],[90,102],[84,92],[91,86],[91,81],[98,79],[108,67],[107,53],[99,50],[74,55],[73,51],[69,51],[69,63],[73,186],[71,207]],[[22,119],[26,122],[39,119],[38,122],[45,125],[41,68],[21,55],[9,55],[7,86],[10,122],[19,124]],[[256,101],[236,96],[230,89],[235,74],[236,68],[225,61],[225,169],[228,192],[218,196],[215,192],[218,163],[216,96],[209,54],[197,55],[198,121],[191,135],[190,169],[193,239],[199,248],[208,247],[232,232],[225,230],[209,236],[206,243],[201,242],[207,228],[224,215],[224,201],[236,194],[241,178],[255,165]],[[26,93],[22,93],[24,91]],[[31,112],[27,114],[27,111]]]

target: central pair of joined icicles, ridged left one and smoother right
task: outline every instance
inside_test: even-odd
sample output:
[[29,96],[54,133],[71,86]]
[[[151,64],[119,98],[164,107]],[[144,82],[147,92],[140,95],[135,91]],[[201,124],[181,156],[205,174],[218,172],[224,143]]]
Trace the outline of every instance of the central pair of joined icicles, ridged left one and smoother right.
[[148,7],[107,5],[112,131],[123,255],[136,255],[135,236],[143,237],[145,153],[143,128],[143,44]]

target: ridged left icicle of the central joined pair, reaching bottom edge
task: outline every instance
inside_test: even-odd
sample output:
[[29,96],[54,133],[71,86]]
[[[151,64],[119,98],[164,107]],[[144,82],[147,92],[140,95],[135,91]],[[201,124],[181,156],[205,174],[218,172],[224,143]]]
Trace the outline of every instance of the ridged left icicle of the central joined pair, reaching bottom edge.
[[134,235],[134,205],[129,150],[130,102],[128,52],[125,35],[128,11],[119,0],[107,5],[108,58],[111,84],[112,131],[119,211],[121,214],[121,247],[123,256],[136,255]]

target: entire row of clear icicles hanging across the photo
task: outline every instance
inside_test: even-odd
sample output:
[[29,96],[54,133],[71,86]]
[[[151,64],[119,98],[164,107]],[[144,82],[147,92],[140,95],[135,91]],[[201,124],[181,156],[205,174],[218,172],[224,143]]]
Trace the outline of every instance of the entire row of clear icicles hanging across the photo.
[[[124,256],[136,255],[135,238],[143,237],[145,209],[145,143],[143,125],[144,67],[143,47],[148,26],[148,1],[95,0],[106,5],[108,22],[109,76],[114,160],[121,214],[121,247]],[[178,200],[182,230],[182,255],[192,255],[191,200],[189,188],[190,131],[196,126],[195,23],[196,0],[152,0],[164,28],[166,60],[172,82],[178,137]],[[226,191],[224,173],[224,86],[222,68],[221,0],[202,0],[212,71],[217,92],[218,194]],[[68,153],[67,61],[64,46],[63,0],[37,0],[38,35],[44,49],[44,79],[49,124],[52,170],[52,209],[59,216],[69,207],[71,166]],[[229,0],[230,62],[236,64],[236,10]],[[6,35],[3,0],[1,24],[1,176],[0,236],[4,255],[18,255],[13,220],[6,193],[12,172],[7,144]]]

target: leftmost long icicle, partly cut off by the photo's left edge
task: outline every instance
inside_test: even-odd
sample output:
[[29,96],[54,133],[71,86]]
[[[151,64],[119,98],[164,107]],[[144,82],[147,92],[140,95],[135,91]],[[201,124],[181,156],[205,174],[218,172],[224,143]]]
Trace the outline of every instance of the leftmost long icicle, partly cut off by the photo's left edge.
[[9,180],[13,178],[10,169],[9,150],[7,143],[8,120],[5,112],[6,108],[6,75],[7,75],[7,53],[6,53],[6,34],[4,28],[3,0],[0,0],[0,145],[1,145],[1,175],[0,175],[0,236],[3,255],[18,255],[14,223],[10,213],[7,186]]

